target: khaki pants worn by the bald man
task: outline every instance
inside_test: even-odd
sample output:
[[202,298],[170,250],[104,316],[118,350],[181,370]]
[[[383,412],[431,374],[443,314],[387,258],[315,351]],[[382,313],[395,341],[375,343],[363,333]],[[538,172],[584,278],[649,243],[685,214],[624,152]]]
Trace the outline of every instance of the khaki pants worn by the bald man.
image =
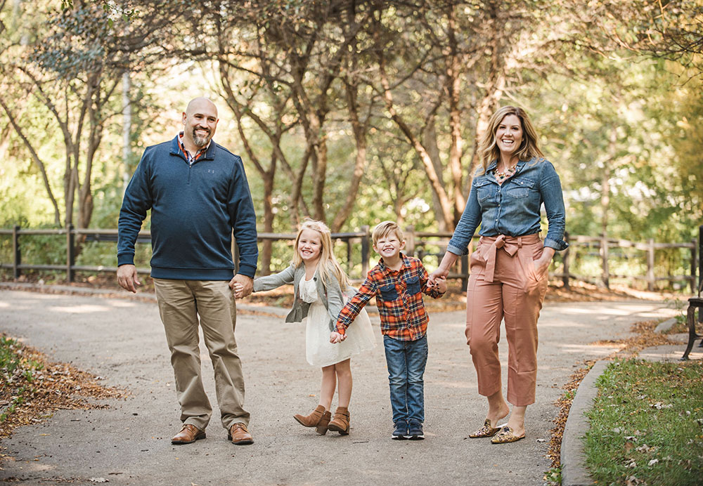
[[234,329],[237,310],[228,282],[154,279],[159,313],[171,350],[181,421],[205,430],[212,414],[200,378],[198,317],[212,360],[222,426],[249,423],[243,409],[244,378]]

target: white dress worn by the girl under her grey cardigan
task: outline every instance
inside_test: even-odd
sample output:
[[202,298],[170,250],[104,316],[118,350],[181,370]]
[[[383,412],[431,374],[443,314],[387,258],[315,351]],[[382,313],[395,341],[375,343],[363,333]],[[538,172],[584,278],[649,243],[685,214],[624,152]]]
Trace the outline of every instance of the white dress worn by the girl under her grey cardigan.
[[[325,367],[347,360],[362,351],[368,351],[376,346],[366,309],[356,316],[356,320],[347,328],[347,339],[341,343],[330,343],[330,315],[317,294],[316,283],[313,279],[302,279],[299,285],[300,298],[310,304],[305,322],[305,357],[313,366]],[[344,296],[344,303],[349,300]]]

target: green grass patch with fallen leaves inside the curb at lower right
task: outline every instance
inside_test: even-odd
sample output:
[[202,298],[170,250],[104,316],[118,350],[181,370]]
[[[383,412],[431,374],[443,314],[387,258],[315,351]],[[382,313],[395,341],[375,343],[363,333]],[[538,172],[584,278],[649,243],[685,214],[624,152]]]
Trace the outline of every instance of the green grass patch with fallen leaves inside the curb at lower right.
[[598,485],[700,485],[703,363],[613,362],[588,412],[586,463]]

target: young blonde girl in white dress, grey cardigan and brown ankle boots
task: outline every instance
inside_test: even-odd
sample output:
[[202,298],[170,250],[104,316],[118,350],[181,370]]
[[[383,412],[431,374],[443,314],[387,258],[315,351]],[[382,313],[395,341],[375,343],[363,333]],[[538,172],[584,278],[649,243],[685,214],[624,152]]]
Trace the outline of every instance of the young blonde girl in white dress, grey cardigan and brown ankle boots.
[[[293,308],[285,322],[305,322],[307,361],[322,367],[322,389],[320,403],[309,415],[294,418],[305,427],[316,427],[320,435],[337,431],[349,433],[349,399],[352,398],[352,355],[370,350],[375,346],[373,329],[366,311],[356,317],[350,326],[347,338],[340,344],[330,343],[330,333],[335,331],[337,315],[347,299],[356,294],[354,287],[335,260],[332,252],[330,230],[321,221],[306,221],[297,237],[293,262],[290,267],[276,275],[254,279],[254,291],[276,289],[293,284],[295,298]],[[241,286],[235,284],[235,295]],[[330,407],[335,388],[338,386],[339,404],[332,419]],[[330,421],[330,419],[332,419]]]

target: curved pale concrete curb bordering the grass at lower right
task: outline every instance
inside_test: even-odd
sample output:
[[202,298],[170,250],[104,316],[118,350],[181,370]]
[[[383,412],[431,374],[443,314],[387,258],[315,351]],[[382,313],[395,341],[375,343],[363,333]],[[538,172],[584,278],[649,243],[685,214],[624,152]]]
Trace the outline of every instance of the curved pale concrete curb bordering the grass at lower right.
[[581,380],[576,396],[569,410],[569,418],[562,434],[562,486],[587,486],[593,480],[586,469],[586,456],[583,453],[583,437],[590,427],[586,412],[591,409],[598,395],[595,380],[602,374],[608,361],[598,361]]

